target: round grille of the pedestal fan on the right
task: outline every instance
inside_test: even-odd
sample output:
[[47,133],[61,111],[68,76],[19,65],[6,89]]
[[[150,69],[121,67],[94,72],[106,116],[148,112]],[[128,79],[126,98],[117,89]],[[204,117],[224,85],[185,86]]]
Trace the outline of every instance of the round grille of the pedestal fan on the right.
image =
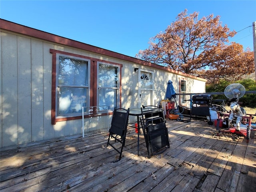
[[224,94],[227,98],[233,99],[233,98],[241,98],[245,94],[245,88],[239,83],[233,83],[228,85],[225,90]]

